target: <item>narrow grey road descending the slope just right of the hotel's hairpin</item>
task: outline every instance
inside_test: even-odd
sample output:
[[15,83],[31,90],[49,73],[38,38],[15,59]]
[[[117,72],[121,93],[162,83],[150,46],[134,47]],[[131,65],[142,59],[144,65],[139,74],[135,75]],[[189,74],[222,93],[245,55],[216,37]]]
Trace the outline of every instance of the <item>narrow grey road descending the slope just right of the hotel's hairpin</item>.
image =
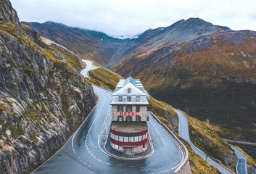
[[183,113],[178,109],[175,109],[175,111],[178,114],[178,120],[179,120],[178,135],[181,136],[181,138],[183,138],[190,144],[191,148],[194,150],[194,152],[196,154],[198,154],[203,159],[207,159],[207,162],[209,162],[211,165],[217,167],[218,170],[220,171],[220,173],[230,174],[231,171],[227,170],[226,167],[219,165],[213,159],[208,157],[204,152],[202,152],[200,149],[198,149],[197,146],[194,146],[194,144],[191,142],[191,140],[189,138],[189,125],[188,125],[188,121],[186,120],[185,115],[183,115]]

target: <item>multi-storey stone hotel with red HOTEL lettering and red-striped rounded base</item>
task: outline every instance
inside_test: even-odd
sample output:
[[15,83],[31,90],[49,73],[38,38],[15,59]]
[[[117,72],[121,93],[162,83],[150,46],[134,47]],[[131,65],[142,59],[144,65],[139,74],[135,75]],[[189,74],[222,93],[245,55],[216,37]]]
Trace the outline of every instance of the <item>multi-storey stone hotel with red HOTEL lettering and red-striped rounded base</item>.
[[146,151],[148,94],[139,79],[122,79],[112,94],[110,145],[123,154]]

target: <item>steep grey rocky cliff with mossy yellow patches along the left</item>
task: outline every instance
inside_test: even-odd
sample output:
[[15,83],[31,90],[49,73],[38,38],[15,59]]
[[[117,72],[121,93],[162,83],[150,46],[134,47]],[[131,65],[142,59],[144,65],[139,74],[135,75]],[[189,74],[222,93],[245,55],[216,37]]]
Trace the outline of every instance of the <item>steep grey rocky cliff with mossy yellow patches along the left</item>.
[[96,103],[74,54],[47,46],[0,1],[0,173],[28,173],[49,157]]

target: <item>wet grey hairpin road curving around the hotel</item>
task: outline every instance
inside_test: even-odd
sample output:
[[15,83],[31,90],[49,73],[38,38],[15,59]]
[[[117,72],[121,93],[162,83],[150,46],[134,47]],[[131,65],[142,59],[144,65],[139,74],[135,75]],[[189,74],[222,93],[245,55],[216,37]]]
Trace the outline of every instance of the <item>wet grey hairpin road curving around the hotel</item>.
[[154,150],[151,156],[117,159],[100,148],[112,92],[96,86],[94,91],[99,96],[94,111],[65,146],[33,173],[173,173],[183,161],[183,152],[151,116],[147,122]]

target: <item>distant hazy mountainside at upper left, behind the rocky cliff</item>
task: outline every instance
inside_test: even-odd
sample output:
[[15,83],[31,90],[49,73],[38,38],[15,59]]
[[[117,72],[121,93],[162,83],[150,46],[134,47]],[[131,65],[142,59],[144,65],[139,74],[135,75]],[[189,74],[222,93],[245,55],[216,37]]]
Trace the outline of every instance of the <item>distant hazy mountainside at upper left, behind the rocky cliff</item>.
[[65,46],[70,51],[78,54],[82,59],[95,60],[101,65],[107,65],[113,55],[122,54],[119,50],[131,46],[131,39],[117,39],[105,33],[81,28],[70,28],[56,22],[23,22],[33,27],[41,36]]

